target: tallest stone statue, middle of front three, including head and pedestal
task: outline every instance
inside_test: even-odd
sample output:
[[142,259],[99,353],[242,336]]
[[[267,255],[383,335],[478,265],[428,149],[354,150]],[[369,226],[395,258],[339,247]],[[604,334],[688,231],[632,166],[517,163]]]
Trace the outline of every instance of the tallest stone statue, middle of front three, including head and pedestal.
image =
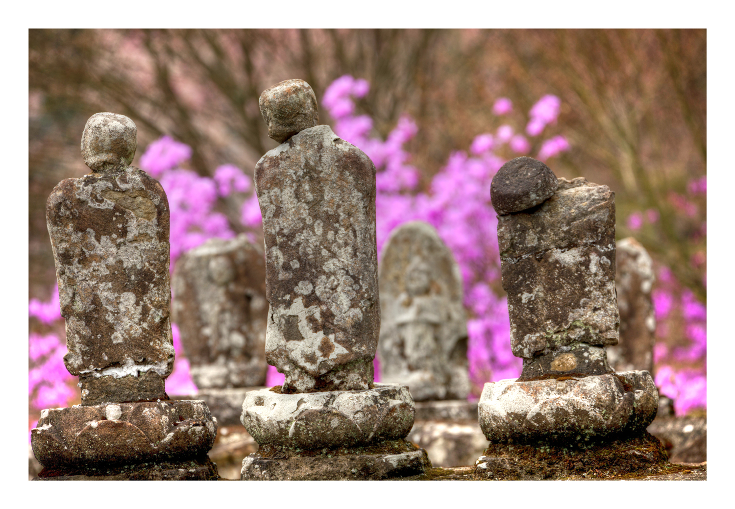
[[373,383],[380,330],[376,169],[329,126],[309,84],[260,97],[281,145],[255,169],[265,234],[265,355],[283,386],[251,391],[242,422],[259,444],[243,480],[382,479],[420,474],[426,452],[404,438],[406,386]]

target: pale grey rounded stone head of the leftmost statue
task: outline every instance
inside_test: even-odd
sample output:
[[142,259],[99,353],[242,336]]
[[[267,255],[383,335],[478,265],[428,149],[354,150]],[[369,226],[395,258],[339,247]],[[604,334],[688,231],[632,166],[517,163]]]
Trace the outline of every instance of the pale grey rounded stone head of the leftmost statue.
[[124,170],[133,162],[137,127],[125,115],[95,113],[82,132],[82,157],[96,173]]

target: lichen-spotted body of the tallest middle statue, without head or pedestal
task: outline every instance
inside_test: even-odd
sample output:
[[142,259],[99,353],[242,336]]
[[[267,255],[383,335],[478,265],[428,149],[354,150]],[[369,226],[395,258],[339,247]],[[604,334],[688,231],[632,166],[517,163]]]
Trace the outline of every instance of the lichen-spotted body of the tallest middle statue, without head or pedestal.
[[266,359],[283,391],[369,389],[380,331],[376,169],[329,126],[295,134],[263,156]]

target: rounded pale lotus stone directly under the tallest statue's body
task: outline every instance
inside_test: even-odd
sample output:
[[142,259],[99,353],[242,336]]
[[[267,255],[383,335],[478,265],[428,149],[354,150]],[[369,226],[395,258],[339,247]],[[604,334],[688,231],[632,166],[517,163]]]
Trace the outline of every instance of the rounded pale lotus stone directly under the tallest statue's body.
[[[276,389],[276,388],[273,388]],[[364,391],[245,395],[242,422],[262,447],[318,450],[402,439],[414,422],[408,386],[376,383]]]

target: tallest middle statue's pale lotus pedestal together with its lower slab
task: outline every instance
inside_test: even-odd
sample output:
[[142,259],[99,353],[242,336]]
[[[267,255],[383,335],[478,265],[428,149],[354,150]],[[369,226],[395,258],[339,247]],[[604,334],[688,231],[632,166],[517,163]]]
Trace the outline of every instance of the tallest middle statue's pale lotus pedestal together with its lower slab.
[[273,389],[251,391],[243,402],[243,426],[259,450],[243,460],[241,480],[379,480],[431,468],[426,451],[404,439],[415,414],[407,386]]

